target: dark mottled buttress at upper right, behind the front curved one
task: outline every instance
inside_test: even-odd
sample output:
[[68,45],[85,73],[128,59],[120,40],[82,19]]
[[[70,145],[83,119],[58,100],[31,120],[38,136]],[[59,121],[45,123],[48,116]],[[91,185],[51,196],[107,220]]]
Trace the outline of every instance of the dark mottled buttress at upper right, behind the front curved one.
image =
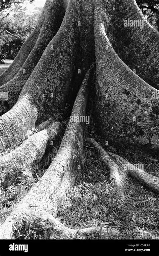
[[[156,89],[158,86],[159,33],[145,19],[135,0],[119,1],[114,50],[131,69]],[[141,27],[124,27],[124,20],[139,20]]]

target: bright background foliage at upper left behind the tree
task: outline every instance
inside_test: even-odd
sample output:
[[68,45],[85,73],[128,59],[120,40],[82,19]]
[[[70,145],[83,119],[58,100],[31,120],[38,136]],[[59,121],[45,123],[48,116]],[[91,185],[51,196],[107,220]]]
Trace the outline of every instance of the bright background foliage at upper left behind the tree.
[[2,51],[6,59],[14,59],[22,43],[36,26],[41,8],[28,13],[28,1],[11,3],[1,14]]

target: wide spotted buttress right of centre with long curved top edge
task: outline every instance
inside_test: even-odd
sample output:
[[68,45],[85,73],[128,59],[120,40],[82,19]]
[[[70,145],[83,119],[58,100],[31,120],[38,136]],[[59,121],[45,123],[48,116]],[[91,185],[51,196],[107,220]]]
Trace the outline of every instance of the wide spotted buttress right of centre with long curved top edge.
[[106,141],[124,145],[158,144],[157,90],[130,70],[105,33],[103,5],[95,7],[96,85],[94,121]]

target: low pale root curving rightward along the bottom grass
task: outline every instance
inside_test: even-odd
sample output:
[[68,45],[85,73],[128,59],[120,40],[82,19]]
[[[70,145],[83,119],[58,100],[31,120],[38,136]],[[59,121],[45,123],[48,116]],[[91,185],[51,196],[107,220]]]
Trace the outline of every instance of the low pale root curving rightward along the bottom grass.
[[[34,211],[33,215],[20,216],[15,223],[13,238],[17,239],[19,234],[24,234],[23,229],[28,225],[31,230],[36,230],[36,235],[40,235],[42,239],[85,239],[85,236],[91,234],[101,234],[109,236],[119,236],[120,232],[113,228],[108,227],[91,227],[84,229],[71,229],[65,227],[52,215],[44,210]],[[18,230],[19,233],[16,231]]]

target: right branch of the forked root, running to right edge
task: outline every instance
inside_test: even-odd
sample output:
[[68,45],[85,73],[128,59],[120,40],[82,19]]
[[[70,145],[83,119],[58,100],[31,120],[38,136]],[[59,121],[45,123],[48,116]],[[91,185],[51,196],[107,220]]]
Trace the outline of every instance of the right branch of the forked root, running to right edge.
[[124,171],[127,172],[127,174],[130,177],[137,179],[138,181],[143,183],[143,186],[159,194],[159,178],[158,177],[155,177],[152,174],[149,174],[144,170],[141,170],[137,166],[130,164],[124,158],[116,154],[113,154],[110,152],[108,152],[108,154],[111,155],[112,158],[118,162],[118,165],[120,167],[124,168]]

